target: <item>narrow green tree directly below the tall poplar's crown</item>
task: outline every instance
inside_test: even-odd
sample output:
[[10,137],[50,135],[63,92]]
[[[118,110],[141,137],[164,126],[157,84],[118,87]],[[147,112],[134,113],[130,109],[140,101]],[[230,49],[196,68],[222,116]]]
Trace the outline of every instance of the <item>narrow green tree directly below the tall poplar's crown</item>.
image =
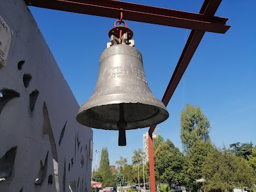
[[191,191],[197,191],[202,187],[202,184],[196,180],[202,179],[202,166],[212,150],[214,150],[214,146],[211,143],[196,141],[191,152],[186,156],[186,184]]

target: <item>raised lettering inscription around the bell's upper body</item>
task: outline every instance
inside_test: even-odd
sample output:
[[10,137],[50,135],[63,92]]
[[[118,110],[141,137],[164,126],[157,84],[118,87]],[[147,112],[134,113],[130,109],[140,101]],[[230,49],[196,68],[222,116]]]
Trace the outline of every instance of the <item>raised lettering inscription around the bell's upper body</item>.
[[108,72],[105,77],[110,77],[111,79],[113,78],[122,78],[122,77],[132,77],[139,79],[141,81],[144,81],[147,83],[147,79],[145,78],[145,74],[140,68],[136,67],[112,67],[110,72]]

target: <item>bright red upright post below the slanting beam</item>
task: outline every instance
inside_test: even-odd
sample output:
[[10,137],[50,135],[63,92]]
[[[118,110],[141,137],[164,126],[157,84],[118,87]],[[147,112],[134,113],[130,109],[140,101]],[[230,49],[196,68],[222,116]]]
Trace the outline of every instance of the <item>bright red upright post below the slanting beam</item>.
[[154,167],[154,150],[152,134],[148,134],[148,156],[149,156],[149,173],[150,173],[150,191],[156,191],[155,167]]

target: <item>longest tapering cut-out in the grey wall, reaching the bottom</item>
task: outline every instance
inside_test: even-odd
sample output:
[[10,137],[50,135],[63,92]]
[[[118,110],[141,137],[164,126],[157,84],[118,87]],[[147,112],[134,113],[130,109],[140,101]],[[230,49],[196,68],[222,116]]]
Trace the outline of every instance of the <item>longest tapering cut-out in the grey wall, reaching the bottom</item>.
[[43,115],[44,115],[44,125],[43,125],[43,133],[49,136],[50,144],[51,144],[51,152],[52,152],[52,161],[53,161],[53,168],[54,168],[54,179],[57,191],[60,191],[60,183],[59,183],[59,170],[58,170],[58,156],[57,156],[57,149],[56,143],[54,140],[54,135],[52,132],[51,122],[49,118],[48,109],[46,103],[44,102],[43,107]]

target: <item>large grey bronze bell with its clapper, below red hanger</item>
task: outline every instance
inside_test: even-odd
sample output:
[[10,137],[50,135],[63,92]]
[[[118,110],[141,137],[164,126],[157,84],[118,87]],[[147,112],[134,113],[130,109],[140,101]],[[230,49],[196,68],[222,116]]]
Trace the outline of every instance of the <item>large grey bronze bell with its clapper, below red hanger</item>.
[[109,35],[112,45],[100,55],[95,90],[76,117],[88,127],[118,130],[120,146],[126,145],[125,130],[160,124],[169,116],[148,87],[140,51],[132,47],[123,31],[120,38]]

